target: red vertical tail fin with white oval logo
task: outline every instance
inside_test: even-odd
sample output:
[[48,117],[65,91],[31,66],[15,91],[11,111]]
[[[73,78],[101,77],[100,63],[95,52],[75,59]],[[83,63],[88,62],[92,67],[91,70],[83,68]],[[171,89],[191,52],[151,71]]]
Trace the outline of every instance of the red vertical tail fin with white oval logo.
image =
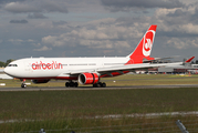
[[149,27],[137,48],[128,55],[129,61],[126,64],[143,63],[144,60],[154,60],[154,58],[150,58],[149,55],[152,52],[156,29],[157,25],[155,24]]

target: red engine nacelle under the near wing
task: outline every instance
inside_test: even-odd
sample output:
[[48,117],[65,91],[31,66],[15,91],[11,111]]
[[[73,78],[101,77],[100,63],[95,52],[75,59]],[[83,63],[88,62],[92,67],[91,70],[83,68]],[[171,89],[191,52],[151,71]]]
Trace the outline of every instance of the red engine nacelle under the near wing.
[[79,75],[79,82],[81,84],[95,84],[100,81],[96,73],[82,73]]

